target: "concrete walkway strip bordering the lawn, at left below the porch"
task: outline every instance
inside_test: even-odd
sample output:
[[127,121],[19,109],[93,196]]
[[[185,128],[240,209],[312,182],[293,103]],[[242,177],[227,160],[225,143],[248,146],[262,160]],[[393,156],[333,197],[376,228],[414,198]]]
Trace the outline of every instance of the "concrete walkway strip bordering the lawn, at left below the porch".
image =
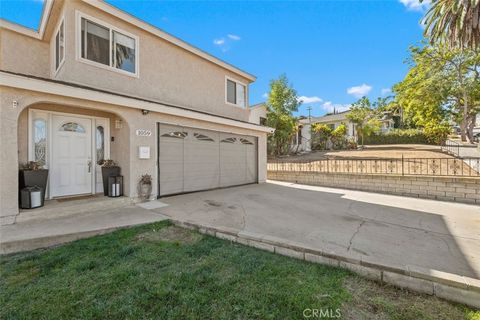
[[127,206],[19,222],[0,226],[0,253],[49,247],[167,218],[138,206]]

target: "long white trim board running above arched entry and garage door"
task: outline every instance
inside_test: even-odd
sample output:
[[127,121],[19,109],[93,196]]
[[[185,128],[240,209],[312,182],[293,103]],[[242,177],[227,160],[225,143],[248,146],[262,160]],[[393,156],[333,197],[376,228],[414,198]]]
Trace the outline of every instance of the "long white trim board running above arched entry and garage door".
[[243,129],[272,133],[273,128],[263,127],[253,123],[242,122],[235,119],[189,110],[182,107],[175,107],[166,103],[150,101],[141,98],[127,97],[106,91],[99,91],[93,88],[79,87],[74,84],[59,83],[54,80],[27,77],[24,75],[12,74],[0,71],[0,86],[12,87],[36,92],[54,94],[59,96],[96,101],[107,104],[114,104],[134,109],[145,109],[179,117],[191,118],[206,122],[223,124]]

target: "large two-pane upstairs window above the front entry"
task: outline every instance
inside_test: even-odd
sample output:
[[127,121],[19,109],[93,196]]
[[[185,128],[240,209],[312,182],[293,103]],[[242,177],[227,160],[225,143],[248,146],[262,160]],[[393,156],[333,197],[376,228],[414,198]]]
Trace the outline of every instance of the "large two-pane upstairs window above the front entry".
[[138,40],[92,20],[84,17],[80,20],[81,58],[136,75]]

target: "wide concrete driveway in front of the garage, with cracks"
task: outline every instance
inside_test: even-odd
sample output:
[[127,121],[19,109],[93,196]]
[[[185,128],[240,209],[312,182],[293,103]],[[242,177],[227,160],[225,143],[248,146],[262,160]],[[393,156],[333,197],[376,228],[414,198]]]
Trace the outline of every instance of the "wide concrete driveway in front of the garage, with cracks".
[[480,207],[269,182],[162,198],[172,219],[480,279]]

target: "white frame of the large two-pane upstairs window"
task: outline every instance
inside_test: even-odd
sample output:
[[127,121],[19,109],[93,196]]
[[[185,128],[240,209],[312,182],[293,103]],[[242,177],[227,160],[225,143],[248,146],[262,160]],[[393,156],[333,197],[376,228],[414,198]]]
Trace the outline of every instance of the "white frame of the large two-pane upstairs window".
[[[103,63],[95,62],[92,60],[88,60],[86,58],[82,58],[82,19],[89,20],[93,23],[96,23],[104,28],[109,30],[109,65],[105,65]],[[88,65],[92,65],[95,67],[99,67],[105,70],[114,71],[120,74],[124,74],[130,77],[139,78],[140,77],[140,70],[139,70],[139,60],[140,60],[140,41],[139,37],[131,34],[127,31],[119,29],[111,24],[108,24],[100,19],[94,18],[89,16],[81,11],[75,10],[75,59],[79,62],[86,63]],[[112,52],[112,41],[113,41],[113,31],[121,33],[127,37],[133,38],[135,40],[135,73],[125,71],[122,69],[115,68],[113,66],[113,52]]]

